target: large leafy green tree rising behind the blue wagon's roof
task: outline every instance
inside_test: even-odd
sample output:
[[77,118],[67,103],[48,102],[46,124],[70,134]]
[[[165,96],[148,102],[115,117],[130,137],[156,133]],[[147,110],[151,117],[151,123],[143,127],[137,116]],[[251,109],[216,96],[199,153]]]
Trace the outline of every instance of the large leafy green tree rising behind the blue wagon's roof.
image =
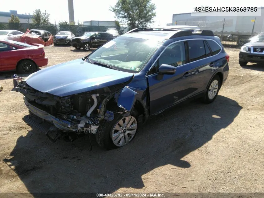
[[117,0],[110,10],[121,23],[130,29],[147,26],[156,17],[156,6],[151,0]]

